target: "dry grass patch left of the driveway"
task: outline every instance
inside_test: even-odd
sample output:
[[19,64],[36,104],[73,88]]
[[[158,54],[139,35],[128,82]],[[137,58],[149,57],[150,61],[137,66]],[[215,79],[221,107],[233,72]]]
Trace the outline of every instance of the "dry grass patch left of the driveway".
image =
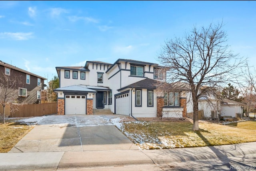
[[34,126],[21,123],[0,123],[0,153],[7,153]]

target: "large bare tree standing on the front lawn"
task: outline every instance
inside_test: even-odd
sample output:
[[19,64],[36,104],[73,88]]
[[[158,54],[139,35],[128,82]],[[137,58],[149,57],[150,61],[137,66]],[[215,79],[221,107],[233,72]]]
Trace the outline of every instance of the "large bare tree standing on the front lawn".
[[199,130],[198,100],[210,97],[208,94],[220,90],[221,85],[232,82],[236,69],[245,61],[229,50],[222,27],[222,23],[201,29],[195,26],[184,38],[167,40],[158,55],[158,61],[169,68],[167,81],[184,82],[190,87],[193,130]]

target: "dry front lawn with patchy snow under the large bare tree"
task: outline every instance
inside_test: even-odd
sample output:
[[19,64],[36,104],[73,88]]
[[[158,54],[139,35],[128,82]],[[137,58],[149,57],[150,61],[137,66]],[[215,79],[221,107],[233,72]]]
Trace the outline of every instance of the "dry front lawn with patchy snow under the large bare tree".
[[245,126],[199,123],[200,130],[192,131],[192,122],[126,121],[117,127],[141,149],[202,147],[256,141],[256,121],[245,121],[237,125]]

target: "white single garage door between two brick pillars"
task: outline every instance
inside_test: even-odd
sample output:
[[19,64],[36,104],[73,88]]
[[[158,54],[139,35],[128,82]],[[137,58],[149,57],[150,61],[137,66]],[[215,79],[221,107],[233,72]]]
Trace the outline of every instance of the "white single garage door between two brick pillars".
[[65,97],[65,115],[86,114],[85,95],[66,95]]

